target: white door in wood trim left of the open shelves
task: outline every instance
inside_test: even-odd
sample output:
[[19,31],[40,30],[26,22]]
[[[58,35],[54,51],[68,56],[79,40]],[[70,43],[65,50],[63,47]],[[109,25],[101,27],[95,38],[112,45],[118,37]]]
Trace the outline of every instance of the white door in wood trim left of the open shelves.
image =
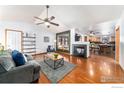
[[22,31],[6,29],[6,49],[22,51]]

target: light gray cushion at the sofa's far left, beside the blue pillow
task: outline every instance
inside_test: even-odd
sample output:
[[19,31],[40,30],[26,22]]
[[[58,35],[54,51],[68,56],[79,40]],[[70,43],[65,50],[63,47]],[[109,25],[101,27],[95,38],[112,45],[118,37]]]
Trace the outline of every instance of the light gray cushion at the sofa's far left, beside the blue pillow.
[[13,67],[15,64],[11,57],[0,57],[0,73],[5,73]]

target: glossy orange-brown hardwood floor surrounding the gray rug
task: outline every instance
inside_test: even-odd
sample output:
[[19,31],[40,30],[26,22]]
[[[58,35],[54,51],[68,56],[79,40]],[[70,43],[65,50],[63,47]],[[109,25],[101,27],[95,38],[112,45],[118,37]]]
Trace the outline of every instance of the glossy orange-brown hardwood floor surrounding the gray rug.
[[[124,71],[111,57],[91,55],[89,58],[82,58],[60,54],[77,67],[59,83],[124,83]],[[43,55],[37,55],[36,60],[43,60]],[[39,83],[50,83],[50,81],[42,73]]]

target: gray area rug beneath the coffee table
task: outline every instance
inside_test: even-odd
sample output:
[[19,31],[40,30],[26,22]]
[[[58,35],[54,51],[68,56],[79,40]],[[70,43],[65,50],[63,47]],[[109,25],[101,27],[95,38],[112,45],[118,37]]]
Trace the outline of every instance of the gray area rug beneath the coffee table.
[[68,75],[73,69],[76,67],[75,64],[69,63],[67,61],[64,62],[62,67],[54,70],[49,67],[43,61],[40,62],[41,71],[47,76],[47,78],[51,81],[51,83],[57,83],[62,80],[66,75]]

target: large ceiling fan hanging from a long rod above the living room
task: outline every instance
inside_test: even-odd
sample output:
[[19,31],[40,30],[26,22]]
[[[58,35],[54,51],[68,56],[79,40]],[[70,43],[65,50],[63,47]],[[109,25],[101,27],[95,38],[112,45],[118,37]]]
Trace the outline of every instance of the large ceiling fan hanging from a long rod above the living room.
[[41,20],[41,22],[36,23],[36,25],[45,24],[48,28],[50,27],[50,24],[54,26],[59,26],[59,24],[52,22],[52,20],[55,19],[54,16],[51,17],[48,16],[48,9],[49,9],[49,5],[46,5],[46,18],[42,19],[36,16],[34,17],[35,19]]

